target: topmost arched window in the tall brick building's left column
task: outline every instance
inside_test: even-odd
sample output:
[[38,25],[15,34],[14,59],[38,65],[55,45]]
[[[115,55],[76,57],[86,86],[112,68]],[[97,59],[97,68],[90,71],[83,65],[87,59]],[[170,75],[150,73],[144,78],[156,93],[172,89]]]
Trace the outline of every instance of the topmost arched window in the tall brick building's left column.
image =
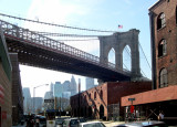
[[165,13],[160,13],[157,18],[157,30],[166,25]]

